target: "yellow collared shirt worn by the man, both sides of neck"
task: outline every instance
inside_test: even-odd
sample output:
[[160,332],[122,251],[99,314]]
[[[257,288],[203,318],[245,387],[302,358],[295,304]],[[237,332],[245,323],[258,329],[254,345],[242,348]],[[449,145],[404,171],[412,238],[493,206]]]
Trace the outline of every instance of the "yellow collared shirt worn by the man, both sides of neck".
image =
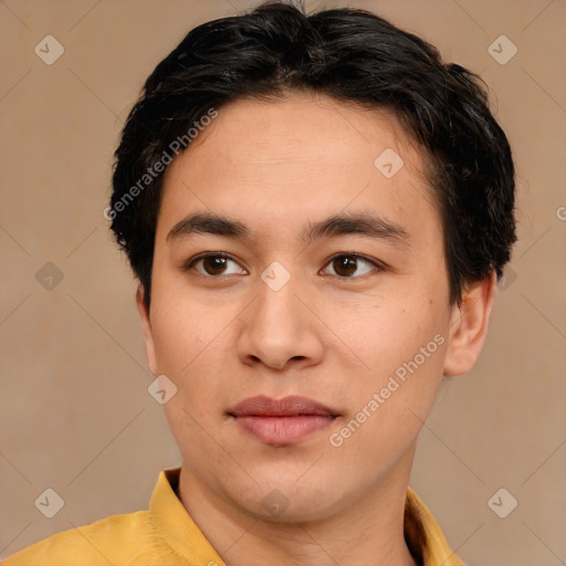
[[[112,515],[57,533],[2,560],[3,566],[224,566],[176,494],[180,468],[164,470],[149,510]],[[408,488],[406,538],[420,528],[426,538],[423,566],[464,566],[431,515]],[[407,507],[406,507],[407,509]],[[411,541],[412,542],[412,541]],[[417,544],[417,543],[416,543]]]

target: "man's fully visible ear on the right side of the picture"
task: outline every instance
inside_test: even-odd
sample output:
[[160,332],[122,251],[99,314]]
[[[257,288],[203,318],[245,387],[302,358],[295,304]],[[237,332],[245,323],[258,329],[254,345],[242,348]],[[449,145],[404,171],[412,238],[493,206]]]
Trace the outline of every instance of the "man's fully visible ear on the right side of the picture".
[[496,294],[494,270],[490,276],[464,290],[461,305],[452,310],[444,375],[461,376],[475,365],[485,343]]

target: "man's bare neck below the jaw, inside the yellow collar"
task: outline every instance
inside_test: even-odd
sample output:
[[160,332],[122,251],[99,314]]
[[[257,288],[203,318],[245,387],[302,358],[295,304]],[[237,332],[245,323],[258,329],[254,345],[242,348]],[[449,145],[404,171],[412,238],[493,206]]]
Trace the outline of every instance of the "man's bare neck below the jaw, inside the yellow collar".
[[265,520],[220,495],[184,464],[179,497],[227,566],[417,566],[403,536],[413,450],[385,480],[308,522]]

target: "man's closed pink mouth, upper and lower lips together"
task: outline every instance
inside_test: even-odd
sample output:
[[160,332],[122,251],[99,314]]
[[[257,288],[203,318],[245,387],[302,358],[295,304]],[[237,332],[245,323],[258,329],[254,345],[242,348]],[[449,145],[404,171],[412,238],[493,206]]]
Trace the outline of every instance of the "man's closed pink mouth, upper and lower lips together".
[[333,423],[339,413],[306,397],[251,397],[228,411],[245,433],[266,444],[293,444]]

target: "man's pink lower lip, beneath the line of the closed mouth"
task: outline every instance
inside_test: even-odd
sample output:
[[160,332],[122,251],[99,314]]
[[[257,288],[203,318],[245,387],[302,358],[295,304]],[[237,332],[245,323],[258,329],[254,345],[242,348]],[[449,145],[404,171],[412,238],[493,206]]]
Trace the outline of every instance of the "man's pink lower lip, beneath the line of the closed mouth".
[[301,415],[298,417],[235,417],[235,421],[268,444],[292,444],[307,434],[323,430],[334,417]]

